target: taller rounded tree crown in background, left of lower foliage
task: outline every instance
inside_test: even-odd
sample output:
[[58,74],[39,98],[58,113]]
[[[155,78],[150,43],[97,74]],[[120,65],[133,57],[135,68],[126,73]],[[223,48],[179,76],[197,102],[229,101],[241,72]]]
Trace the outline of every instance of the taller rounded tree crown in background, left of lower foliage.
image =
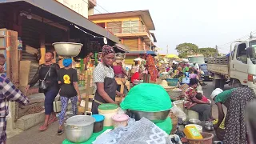
[[175,50],[177,50],[179,58],[186,58],[188,54],[198,53],[198,46],[193,43],[185,42],[185,43],[179,44]]

